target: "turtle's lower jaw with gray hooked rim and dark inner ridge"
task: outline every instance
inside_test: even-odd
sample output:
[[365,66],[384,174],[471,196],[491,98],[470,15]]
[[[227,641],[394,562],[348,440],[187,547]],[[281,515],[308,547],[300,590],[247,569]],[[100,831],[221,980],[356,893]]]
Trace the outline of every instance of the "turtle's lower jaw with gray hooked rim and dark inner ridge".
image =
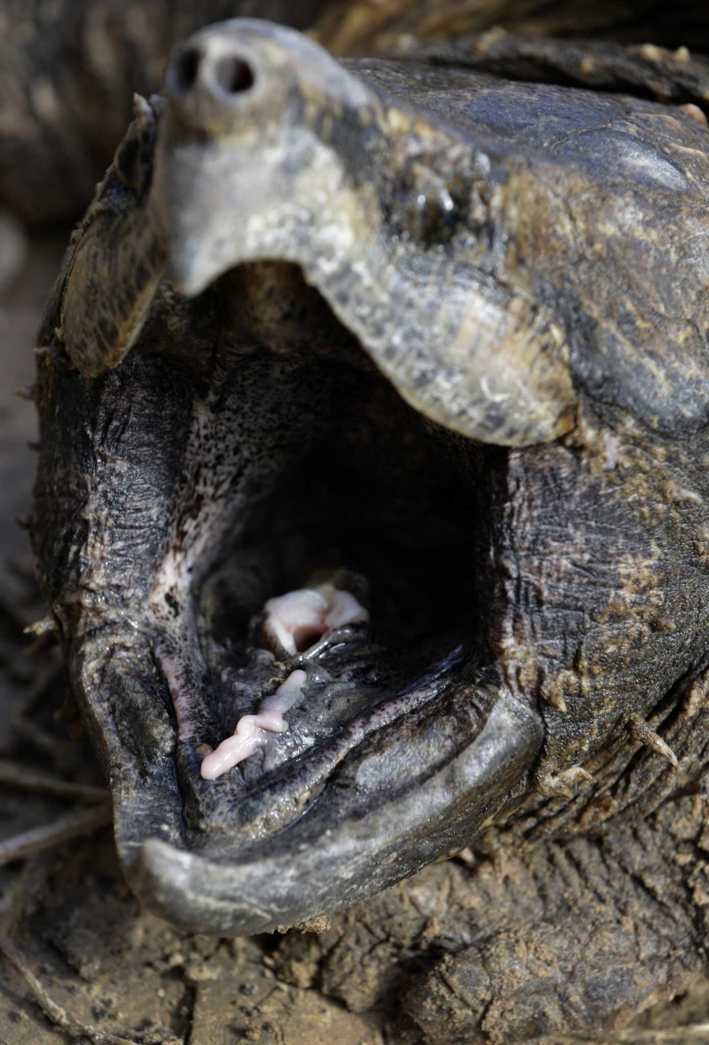
[[[457,852],[526,790],[542,726],[528,706],[456,669],[442,665],[426,684],[376,704],[240,800],[202,782],[185,745],[181,786],[134,766],[152,792],[142,831],[132,800],[116,808],[135,890],[187,929],[246,934],[349,906]],[[197,805],[204,818],[190,827]],[[180,829],[165,838],[158,820]]]

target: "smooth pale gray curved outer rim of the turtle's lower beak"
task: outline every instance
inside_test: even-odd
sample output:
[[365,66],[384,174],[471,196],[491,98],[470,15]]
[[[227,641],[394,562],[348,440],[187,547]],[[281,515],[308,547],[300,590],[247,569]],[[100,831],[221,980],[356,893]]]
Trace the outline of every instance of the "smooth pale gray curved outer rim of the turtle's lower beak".
[[[133,804],[119,803],[116,840],[132,887],[146,906],[182,928],[245,935],[349,907],[453,855],[524,793],[542,722],[509,695],[469,691],[424,696],[413,718],[424,747],[443,735],[458,738],[426,779],[416,771],[418,744],[409,737],[389,752],[387,777],[398,769],[405,781],[399,793],[359,793],[357,777],[364,779],[365,791],[368,766],[355,753],[354,766],[342,764],[348,780],[335,773],[306,813],[250,844],[238,860],[221,862],[161,837],[136,837],[141,820],[148,832],[155,823],[149,807],[161,802],[155,787],[138,817]],[[398,725],[395,719],[382,733]],[[174,805],[172,795],[168,800]],[[167,813],[155,810],[161,811]]]

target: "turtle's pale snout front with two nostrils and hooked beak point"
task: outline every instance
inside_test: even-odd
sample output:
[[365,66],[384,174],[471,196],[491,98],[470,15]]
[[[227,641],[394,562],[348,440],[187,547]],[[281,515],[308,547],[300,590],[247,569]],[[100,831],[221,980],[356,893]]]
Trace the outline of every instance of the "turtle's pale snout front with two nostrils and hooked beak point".
[[[244,261],[307,268],[315,242],[328,249],[323,209],[333,210],[328,235],[340,257],[368,225],[376,231],[376,207],[362,212],[344,186],[347,158],[318,125],[328,112],[357,113],[363,125],[373,97],[300,33],[249,19],[206,29],[174,52],[165,95],[152,209],[182,294]],[[356,152],[360,127],[350,124]]]

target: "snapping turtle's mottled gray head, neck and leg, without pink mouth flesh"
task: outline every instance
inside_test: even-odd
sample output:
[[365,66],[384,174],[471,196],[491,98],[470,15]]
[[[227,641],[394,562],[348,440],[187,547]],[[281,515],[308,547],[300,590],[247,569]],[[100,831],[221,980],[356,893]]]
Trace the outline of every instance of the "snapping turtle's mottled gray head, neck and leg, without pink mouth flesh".
[[[424,966],[399,1040],[511,1042],[706,959],[709,135],[469,47],[344,68],[235,21],[175,53],[47,310],[33,540],[143,901],[256,932],[487,829],[450,925],[371,903]],[[372,633],[264,649],[264,600],[339,565]],[[203,781],[294,667],[290,735]],[[368,910],[317,945],[361,1007],[398,982],[337,980]]]

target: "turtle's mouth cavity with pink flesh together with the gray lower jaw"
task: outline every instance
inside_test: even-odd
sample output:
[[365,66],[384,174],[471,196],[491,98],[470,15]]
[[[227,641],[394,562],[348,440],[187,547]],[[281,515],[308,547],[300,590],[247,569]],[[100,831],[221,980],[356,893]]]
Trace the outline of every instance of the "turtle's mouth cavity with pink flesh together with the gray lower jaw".
[[[257,269],[274,293],[299,284]],[[175,776],[142,767],[162,790],[143,791],[138,837],[131,806],[123,858],[162,913],[220,932],[292,924],[455,852],[523,789],[541,741],[498,699],[486,645],[503,451],[409,407],[316,292],[298,297],[324,344],[242,331],[238,363],[196,382],[143,625]],[[120,847],[120,807],[117,825]]]

